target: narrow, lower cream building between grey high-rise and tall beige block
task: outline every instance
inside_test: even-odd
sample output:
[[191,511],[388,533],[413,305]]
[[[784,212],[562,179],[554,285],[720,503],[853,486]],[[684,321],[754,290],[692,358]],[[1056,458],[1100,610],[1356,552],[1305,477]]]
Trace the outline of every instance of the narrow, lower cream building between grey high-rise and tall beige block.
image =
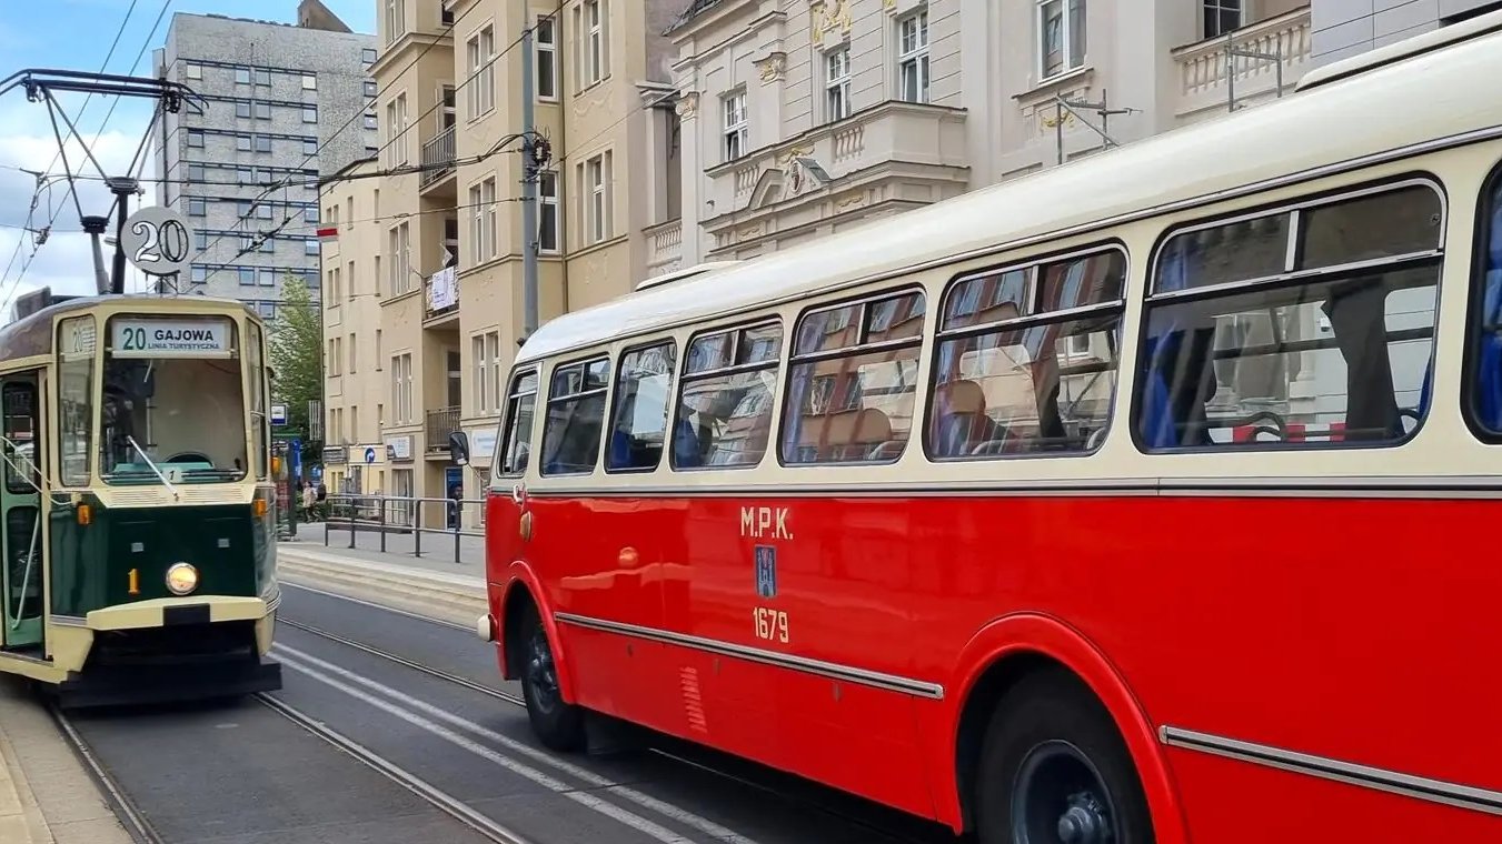
[[[386,399],[397,372],[382,337],[382,249],[379,163],[356,160],[324,177],[318,211],[321,244],[324,483],[329,490],[374,495],[391,490],[397,453],[382,438]],[[410,460],[410,448],[404,453]]]

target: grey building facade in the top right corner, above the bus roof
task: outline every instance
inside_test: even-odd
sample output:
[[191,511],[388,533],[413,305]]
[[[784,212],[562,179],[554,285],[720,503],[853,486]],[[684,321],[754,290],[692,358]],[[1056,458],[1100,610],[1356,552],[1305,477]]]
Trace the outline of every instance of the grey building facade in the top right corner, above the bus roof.
[[1497,0],[1313,0],[1313,64],[1437,30],[1502,7]]

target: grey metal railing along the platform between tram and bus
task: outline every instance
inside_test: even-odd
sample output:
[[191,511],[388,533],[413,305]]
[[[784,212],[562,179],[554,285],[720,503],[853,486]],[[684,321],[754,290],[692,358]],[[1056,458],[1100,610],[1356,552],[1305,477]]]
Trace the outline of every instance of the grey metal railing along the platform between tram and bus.
[[[329,493],[326,504],[329,514],[323,520],[324,547],[332,546],[335,531],[348,532],[350,544],[347,547],[350,550],[354,550],[359,534],[379,534],[380,553],[412,553],[421,558],[422,537],[440,535],[454,540],[454,562],[463,562],[464,538],[485,537],[482,529],[463,528],[464,516],[476,511],[481,514],[479,522],[484,525],[485,499]],[[434,523],[443,526],[434,528]],[[412,550],[389,549],[389,537],[410,537]]]

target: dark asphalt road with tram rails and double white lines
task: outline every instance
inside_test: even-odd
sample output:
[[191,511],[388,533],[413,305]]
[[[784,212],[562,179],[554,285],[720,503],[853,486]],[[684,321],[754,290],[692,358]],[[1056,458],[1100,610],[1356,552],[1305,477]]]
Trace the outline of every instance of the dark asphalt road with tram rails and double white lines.
[[493,648],[467,630],[291,585],[279,618],[323,634],[278,625],[285,688],[273,700],[314,730],[336,732],[363,762],[254,699],[74,715],[161,841],[505,840],[428,798],[529,844],[955,841],[900,813],[659,736],[610,754],[545,751],[526,712],[496,696],[520,690],[500,681]]

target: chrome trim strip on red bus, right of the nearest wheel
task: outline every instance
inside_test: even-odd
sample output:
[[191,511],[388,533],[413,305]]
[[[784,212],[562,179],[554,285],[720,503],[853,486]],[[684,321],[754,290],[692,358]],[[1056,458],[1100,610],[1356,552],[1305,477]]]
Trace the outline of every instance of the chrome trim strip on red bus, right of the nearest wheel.
[[1458,783],[1446,783],[1443,780],[1430,780],[1428,777],[1415,777],[1412,774],[1400,774],[1383,768],[1371,768],[1368,765],[1356,765],[1353,762],[1341,762],[1338,759],[1313,756],[1256,742],[1244,742],[1239,739],[1229,739],[1224,736],[1199,733],[1179,727],[1160,727],[1158,736],[1160,741],[1169,747],[1221,756],[1238,762],[1250,762],[1253,765],[1292,771],[1295,774],[1334,780],[1349,786],[1389,792],[1394,795],[1445,804],[1463,810],[1502,814],[1502,792],[1461,786]]

